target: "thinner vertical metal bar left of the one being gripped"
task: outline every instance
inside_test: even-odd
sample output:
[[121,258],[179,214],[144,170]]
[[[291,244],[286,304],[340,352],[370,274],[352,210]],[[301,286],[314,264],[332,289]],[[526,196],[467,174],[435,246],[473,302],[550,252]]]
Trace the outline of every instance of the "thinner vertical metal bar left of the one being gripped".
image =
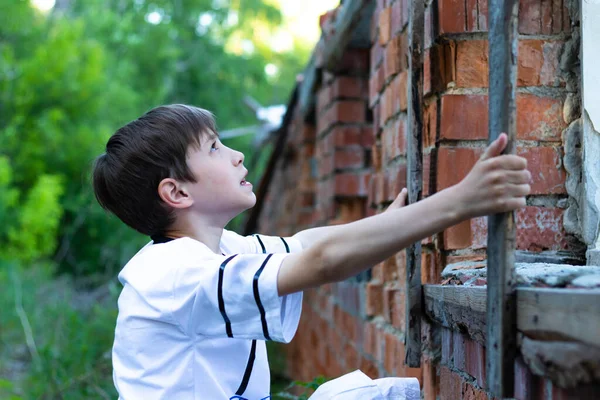
[[[408,202],[421,199],[423,190],[423,62],[425,1],[412,0],[408,23]],[[421,365],[421,242],[406,249],[406,356],[409,367]]]

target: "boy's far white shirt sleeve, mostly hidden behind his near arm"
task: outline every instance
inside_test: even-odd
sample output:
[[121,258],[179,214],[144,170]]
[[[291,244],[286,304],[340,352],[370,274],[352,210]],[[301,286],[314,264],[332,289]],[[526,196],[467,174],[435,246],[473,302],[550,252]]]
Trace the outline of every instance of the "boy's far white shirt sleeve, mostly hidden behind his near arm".
[[[221,247],[229,253],[297,253],[302,251],[302,244],[293,237],[267,236],[255,234],[238,235],[224,230]],[[235,251],[234,251],[235,250]]]

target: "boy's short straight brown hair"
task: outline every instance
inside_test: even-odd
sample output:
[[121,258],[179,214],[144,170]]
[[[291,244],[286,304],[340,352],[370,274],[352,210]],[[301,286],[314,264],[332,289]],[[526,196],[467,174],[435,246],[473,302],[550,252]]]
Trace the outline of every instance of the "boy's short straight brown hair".
[[93,186],[100,205],[145,235],[158,235],[174,214],[158,195],[165,178],[195,182],[186,158],[200,137],[216,135],[212,113],[173,104],[156,107],[117,130],[94,164]]

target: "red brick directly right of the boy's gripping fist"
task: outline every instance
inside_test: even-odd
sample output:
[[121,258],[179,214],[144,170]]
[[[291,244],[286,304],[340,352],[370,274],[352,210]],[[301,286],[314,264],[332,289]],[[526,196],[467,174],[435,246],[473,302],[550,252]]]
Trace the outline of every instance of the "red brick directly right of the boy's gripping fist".
[[566,193],[566,172],[561,150],[556,147],[520,147],[517,154],[527,159],[531,172],[531,194]]

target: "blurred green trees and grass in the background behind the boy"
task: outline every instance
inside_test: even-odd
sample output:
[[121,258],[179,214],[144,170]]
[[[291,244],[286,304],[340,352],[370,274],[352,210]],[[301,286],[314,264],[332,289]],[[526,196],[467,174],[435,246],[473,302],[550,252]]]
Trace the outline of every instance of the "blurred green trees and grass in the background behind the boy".
[[[113,281],[148,240],[95,200],[90,171],[109,136],[174,102],[210,109],[220,129],[254,125],[244,96],[286,103],[309,53],[271,48],[282,16],[267,0],[57,3],[66,8],[44,15],[0,1],[2,399],[115,398],[115,299],[76,307],[64,277],[87,290]],[[267,76],[267,64],[280,72]],[[269,151],[250,141],[227,144],[247,154],[257,183]]]

